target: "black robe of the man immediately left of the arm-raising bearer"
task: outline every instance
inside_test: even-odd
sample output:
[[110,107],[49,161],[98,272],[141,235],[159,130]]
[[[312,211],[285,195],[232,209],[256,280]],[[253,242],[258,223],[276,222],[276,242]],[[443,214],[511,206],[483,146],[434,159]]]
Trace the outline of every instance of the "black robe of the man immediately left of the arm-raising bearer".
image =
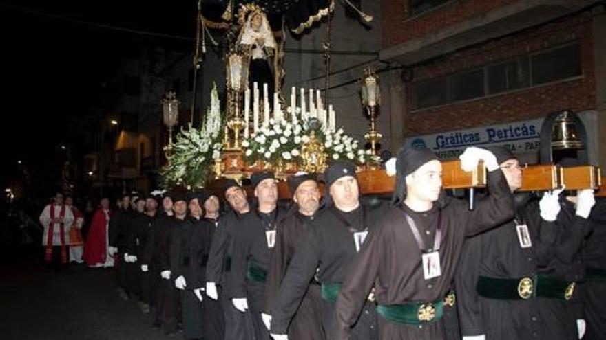
[[[360,205],[352,212],[341,212],[330,205],[317,213],[302,243],[297,246],[299,250],[295,252],[275,297],[271,313],[272,333],[287,334],[314,275],[318,282],[325,284],[344,281],[351,271],[351,261],[356,253],[354,233],[372,230],[382,210],[371,210]],[[362,317],[354,328],[355,337],[376,339],[374,306],[366,303],[364,307]],[[334,308],[333,302],[322,300],[322,329],[327,339],[333,339],[335,334]]]

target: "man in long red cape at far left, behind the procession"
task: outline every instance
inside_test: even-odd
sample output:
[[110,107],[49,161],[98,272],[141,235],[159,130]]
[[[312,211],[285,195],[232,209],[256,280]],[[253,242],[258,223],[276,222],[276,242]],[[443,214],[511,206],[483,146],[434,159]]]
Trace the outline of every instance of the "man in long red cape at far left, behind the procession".
[[114,258],[109,255],[108,226],[112,211],[109,199],[101,199],[101,207],[92,217],[88,237],[84,246],[84,261],[88,267],[114,267]]

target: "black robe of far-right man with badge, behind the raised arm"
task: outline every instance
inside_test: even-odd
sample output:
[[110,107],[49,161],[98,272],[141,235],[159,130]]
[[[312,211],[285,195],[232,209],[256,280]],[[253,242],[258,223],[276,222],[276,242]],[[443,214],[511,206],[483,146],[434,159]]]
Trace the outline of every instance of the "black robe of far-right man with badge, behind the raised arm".
[[[576,336],[575,321],[561,299],[490,299],[476,291],[479,276],[520,279],[556,271],[553,258],[561,226],[542,220],[538,203],[536,199],[516,202],[515,220],[466,240],[455,277],[463,336],[483,334],[495,340]],[[532,247],[521,247],[516,223],[527,225]]]

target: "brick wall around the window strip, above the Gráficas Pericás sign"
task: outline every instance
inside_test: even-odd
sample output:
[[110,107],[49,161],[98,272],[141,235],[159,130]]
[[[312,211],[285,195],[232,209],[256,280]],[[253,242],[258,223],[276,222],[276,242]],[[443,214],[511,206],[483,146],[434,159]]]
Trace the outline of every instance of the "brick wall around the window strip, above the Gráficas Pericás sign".
[[[461,1],[461,3],[463,2],[477,1]],[[583,76],[574,80],[521,89],[488,98],[419,110],[414,110],[412,107],[412,86],[409,83],[406,84],[404,135],[408,137],[528,120],[543,117],[547,113],[560,109],[574,111],[595,109],[593,40],[592,17],[589,13],[582,13],[464,49],[444,56],[441,60],[415,67],[413,70],[414,81],[425,80],[493,61],[540,51],[562,43],[578,41],[581,43]]]

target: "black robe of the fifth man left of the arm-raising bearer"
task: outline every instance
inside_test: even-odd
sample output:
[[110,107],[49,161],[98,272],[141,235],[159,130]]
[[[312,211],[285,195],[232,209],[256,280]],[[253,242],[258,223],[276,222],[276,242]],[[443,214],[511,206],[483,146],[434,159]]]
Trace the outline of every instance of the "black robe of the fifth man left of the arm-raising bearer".
[[202,288],[202,329],[205,340],[223,340],[224,321],[221,303],[207,297],[204,293],[206,284],[206,267],[211,250],[213,234],[218,222],[202,218],[200,224],[191,231],[190,266],[191,277],[187,285],[191,288]]

